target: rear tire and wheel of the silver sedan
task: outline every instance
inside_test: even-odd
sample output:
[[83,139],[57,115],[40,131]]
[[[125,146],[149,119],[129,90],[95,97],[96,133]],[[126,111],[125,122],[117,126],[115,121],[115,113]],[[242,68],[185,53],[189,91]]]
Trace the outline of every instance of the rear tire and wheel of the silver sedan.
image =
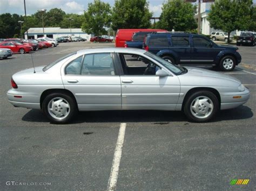
[[[51,109],[53,110],[51,111]],[[70,122],[78,112],[76,101],[70,95],[64,93],[53,93],[46,96],[42,104],[42,110],[45,116],[55,124]]]

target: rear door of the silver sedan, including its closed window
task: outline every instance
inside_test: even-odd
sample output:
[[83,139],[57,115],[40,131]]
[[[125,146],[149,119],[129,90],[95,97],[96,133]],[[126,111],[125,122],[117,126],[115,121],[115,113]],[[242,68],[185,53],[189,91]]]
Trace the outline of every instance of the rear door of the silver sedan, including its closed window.
[[79,56],[64,70],[64,87],[75,95],[79,110],[121,109],[120,77],[111,53]]

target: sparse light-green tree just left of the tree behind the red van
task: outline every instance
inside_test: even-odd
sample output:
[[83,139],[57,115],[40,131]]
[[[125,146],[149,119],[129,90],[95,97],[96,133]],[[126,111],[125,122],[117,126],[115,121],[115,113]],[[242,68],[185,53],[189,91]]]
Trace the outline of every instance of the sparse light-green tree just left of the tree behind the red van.
[[82,24],[82,30],[88,34],[94,33],[96,36],[106,33],[104,27],[110,26],[110,12],[109,3],[100,0],[89,3],[87,11],[84,12],[85,20]]

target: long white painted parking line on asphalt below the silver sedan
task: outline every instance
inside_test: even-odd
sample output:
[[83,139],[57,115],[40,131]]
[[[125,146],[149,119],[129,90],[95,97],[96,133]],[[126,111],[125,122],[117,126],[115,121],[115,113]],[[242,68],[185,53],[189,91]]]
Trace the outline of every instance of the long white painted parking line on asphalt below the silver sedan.
[[117,186],[117,178],[120,160],[122,157],[122,148],[124,144],[124,135],[125,135],[126,123],[120,124],[120,129],[117,138],[116,149],[114,150],[114,158],[112,162],[112,168],[109,176],[109,183],[107,183],[107,190],[114,190]]

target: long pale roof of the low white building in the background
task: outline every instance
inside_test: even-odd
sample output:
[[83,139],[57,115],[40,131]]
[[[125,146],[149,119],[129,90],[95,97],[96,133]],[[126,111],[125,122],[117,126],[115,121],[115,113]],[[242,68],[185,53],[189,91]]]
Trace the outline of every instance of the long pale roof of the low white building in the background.
[[[85,33],[82,29],[71,29],[72,33]],[[29,34],[43,34],[43,28],[30,28]],[[44,27],[45,34],[70,33],[70,29],[61,29],[60,27]],[[85,33],[86,34],[86,33]]]

